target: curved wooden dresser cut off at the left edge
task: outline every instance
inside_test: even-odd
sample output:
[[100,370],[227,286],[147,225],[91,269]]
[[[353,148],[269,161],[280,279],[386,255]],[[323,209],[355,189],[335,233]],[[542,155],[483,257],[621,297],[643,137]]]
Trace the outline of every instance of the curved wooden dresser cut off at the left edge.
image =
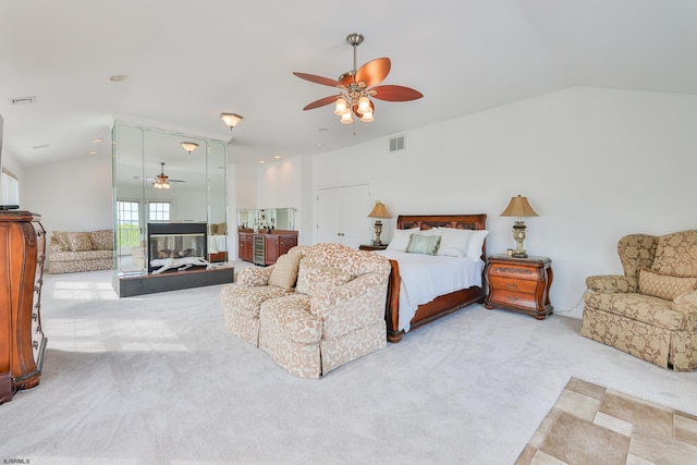
[[0,404],[39,383],[46,351],[40,296],[46,232],[38,216],[0,210]]

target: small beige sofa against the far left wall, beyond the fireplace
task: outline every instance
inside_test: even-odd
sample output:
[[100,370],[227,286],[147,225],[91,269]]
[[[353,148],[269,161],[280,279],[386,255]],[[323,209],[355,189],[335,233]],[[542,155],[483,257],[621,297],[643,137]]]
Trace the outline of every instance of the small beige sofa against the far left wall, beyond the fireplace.
[[113,268],[113,231],[53,231],[48,254],[49,273]]

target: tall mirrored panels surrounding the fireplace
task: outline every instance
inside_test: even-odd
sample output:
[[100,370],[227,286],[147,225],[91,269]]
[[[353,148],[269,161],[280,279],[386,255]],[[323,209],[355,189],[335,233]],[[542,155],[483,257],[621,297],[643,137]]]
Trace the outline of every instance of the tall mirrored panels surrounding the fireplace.
[[117,273],[152,268],[149,224],[204,224],[206,258],[227,261],[227,143],[121,121],[112,139]]

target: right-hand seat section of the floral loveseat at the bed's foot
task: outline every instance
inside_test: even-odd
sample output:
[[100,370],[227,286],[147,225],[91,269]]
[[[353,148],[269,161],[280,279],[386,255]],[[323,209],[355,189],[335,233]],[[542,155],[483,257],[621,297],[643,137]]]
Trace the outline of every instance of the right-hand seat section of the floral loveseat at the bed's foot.
[[303,250],[295,293],[266,301],[259,348],[289,372],[319,378],[387,345],[390,261],[341,244]]

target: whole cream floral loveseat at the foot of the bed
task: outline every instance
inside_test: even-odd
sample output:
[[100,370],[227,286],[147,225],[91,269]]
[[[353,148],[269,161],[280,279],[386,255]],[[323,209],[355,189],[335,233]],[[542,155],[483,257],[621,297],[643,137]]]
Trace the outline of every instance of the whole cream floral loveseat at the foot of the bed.
[[292,248],[225,284],[225,328],[289,372],[319,378],[387,345],[390,262],[340,244]]

